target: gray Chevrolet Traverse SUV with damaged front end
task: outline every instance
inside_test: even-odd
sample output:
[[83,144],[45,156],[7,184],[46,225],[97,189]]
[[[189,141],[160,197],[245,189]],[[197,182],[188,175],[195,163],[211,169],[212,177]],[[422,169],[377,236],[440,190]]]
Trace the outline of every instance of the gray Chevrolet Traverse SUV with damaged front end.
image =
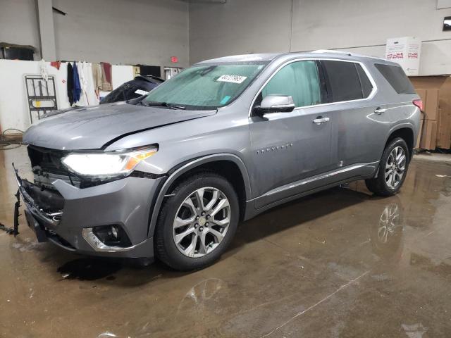
[[421,105],[378,58],[216,58],[147,96],[42,119],[24,134],[34,182],[16,177],[39,241],[192,270],[273,206],[353,180],[398,192]]

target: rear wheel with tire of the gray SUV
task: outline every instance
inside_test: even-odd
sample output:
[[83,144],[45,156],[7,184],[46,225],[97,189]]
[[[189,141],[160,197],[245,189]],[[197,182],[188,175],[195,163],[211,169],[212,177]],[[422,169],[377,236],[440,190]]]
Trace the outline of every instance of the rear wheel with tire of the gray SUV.
[[404,139],[391,140],[383,151],[377,177],[365,180],[366,187],[378,196],[393,196],[404,183],[409,161],[409,149]]

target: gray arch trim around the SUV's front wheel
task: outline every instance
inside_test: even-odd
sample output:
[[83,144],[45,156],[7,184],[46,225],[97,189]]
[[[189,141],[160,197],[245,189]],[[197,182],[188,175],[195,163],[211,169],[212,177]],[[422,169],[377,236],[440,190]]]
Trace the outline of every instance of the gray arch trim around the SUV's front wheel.
[[150,213],[147,237],[152,237],[154,234],[156,220],[159,217],[163,200],[168,192],[171,192],[171,189],[181,179],[199,171],[212,171],[225,176],[231,181],[230,183],[238,194],[240,219],[244,217],[246,201],[249,201],[249,199],[252,198],[251,185],[245,163],[240,157],[234,154],[212,154],[202,156],[201,158],[194,158],[191,161],[181,163],[168,172],[170,175],[159,190],[154,207]]

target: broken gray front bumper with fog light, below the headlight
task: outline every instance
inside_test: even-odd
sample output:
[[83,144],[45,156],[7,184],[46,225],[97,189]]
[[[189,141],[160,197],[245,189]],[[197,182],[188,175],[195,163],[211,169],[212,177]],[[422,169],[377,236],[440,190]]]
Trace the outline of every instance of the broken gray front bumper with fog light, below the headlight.
[[[91,256],[153,258],[149,217],[163,177],[125,177],[85,189],[55,180],[55,189],[42,189],[14,171],[28,226],[39,242]],[[126,241],[107,242],[100,230],[109,227]]]

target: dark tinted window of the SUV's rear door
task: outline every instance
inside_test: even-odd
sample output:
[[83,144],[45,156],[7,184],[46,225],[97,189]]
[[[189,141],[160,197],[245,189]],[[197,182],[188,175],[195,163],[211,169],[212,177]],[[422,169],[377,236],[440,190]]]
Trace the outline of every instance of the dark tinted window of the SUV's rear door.
[[321,62],[326,66],[333,102],[363,99],[355,63],[344,61]]

